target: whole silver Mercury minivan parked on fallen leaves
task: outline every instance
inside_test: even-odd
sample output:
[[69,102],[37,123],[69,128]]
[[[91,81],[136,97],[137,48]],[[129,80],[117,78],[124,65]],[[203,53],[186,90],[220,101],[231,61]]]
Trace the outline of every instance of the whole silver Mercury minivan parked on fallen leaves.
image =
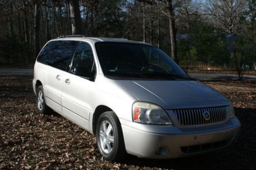
[[127,39],[50,40],[35,62],[33,89],[40,113],[54,110],[95,134],[111,161],[219,150],[241,126],[225,96],[158,47]]

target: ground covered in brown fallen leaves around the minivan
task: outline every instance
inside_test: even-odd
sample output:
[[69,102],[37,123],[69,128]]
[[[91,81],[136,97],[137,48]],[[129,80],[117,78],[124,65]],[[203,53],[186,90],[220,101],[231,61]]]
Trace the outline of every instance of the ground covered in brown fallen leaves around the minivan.
[[40,115],[32,79],[0,77],[0,169],[253,169],[256,166],[256,82],[205,82],[227,96],[242,123],[238,142],[214,153],[152,160],[104,160],[95,136],[69,120]]

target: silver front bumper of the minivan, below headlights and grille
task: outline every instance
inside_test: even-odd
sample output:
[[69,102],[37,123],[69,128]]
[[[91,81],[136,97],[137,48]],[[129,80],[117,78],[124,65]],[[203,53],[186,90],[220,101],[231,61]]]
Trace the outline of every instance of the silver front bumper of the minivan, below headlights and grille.
[[[144,158],[177,158],[222,149],[235,142],[241,124],[234,117],[210,127],[184,128],[129,123],[121,120],[127,153]],[[164,152],[156,154],[162,147]]]

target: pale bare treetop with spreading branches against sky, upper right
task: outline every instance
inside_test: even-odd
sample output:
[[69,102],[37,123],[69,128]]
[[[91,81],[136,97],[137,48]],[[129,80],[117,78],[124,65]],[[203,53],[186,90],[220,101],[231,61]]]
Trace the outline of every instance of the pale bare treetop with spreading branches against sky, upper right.
[[222,29],[231,33],[243,13],[243,0],[206,0],[205,7]]

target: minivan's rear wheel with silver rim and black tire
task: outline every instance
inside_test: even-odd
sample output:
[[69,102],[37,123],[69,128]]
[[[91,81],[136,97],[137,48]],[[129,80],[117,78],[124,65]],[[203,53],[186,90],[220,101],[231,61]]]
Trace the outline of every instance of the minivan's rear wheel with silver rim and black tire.
[[50,114],[53,110],[46,105],[45,93],[42,85],[36,89],[36,107],[40,114]]

